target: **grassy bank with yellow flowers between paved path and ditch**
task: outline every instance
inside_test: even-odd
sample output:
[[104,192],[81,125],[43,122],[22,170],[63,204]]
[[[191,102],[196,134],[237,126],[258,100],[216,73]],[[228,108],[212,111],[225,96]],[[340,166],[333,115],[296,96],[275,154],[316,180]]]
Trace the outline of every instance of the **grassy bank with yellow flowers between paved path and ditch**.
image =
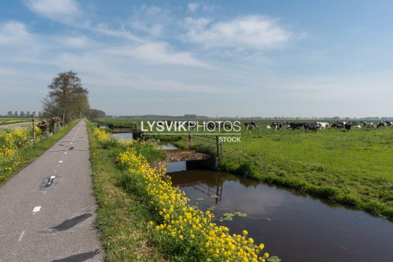
[[107,261],[265,261],[247,237],[230,235],[149,162],[160,156],[151,142],[115,142],[89,125],[97,226]]

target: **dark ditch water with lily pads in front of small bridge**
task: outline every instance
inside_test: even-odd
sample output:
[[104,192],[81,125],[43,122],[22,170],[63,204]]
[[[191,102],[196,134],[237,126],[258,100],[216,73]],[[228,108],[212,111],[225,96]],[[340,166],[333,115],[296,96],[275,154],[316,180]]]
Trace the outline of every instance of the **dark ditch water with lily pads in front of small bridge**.
[[247,217],[217,223],[233,233],[247,230],[256,243],[265,244],[266,252],[283,262],[393,261],[390,221],[229,173],[190,170],[170,176],[191,204],[199,202],[203,210],[215,205],[216,216],[246,213]]

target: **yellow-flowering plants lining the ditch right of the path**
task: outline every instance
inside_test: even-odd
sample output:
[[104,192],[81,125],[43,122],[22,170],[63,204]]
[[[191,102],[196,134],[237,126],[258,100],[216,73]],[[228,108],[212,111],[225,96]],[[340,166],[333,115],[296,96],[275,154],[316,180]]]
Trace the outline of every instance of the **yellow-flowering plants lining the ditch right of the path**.
[[[96,131],[100,141],[105,138]],[[189,199],[178,187],[172,186],[165,170],[150,168],[146,157],[138,151],[151,141],[130,142],[117,157],[118,165],[126,170],[121,184],[135,189],[145,196],[157,221],[149,227],[157,231],[160,244],[172,256],[186,256],[189,261],[265,261],[268,253],[260,255],[264,245],[255,245],[248,232],[230,234],[229,229],[216,225],[210,211],[189,205]],[[123,144],[121,141],[119,144]],[[139,144],[140,146],[136,146]],[[128,188],[127,188],[128,187]]]

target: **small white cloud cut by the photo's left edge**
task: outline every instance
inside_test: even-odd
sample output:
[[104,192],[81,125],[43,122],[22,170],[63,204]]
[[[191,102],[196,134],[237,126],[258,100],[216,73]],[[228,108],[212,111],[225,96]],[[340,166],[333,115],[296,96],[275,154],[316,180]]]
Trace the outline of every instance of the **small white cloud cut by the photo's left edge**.
[[26,43],[32,37],[23,23],[9,21],[0,25],[0,44]]

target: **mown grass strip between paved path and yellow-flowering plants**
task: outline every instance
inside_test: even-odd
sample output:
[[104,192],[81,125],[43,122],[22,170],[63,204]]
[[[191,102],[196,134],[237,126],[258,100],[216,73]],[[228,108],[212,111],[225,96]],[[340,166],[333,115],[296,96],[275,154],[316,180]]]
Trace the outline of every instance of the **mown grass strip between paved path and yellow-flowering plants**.
[[103,148],[88,124],[93,189],[97,199],[96,225],[105,247],[105,261],[165,261],[148,230],[152,220],[148,206],[136,192],[119,185],[122,171],[116,168],[116,147]]

